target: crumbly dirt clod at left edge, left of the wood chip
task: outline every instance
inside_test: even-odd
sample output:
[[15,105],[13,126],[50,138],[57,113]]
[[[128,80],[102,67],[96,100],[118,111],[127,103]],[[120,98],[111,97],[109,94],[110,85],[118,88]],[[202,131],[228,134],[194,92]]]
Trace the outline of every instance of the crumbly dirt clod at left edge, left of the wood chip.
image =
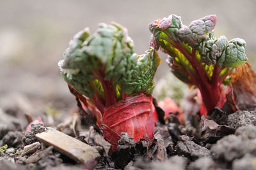
[[20,148],[22,136],[22,132],[10,131],[4,135],[3,139],[0,141],[0,146],[8,145],[8,147]]

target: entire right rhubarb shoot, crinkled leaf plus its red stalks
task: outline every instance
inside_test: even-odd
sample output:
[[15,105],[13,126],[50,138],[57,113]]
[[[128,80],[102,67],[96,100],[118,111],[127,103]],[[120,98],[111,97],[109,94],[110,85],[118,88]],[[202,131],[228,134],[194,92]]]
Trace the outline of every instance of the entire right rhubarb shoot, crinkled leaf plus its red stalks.
[[245,41],[225,36],[214,37],[216,15],[191,22],[187,27],[180,17],[170,15],[149,24],[150,46],[168,54],[172,73],[189,86],[200,90],[207,111],[225,103],[225,89],[232,68],[246,62]]

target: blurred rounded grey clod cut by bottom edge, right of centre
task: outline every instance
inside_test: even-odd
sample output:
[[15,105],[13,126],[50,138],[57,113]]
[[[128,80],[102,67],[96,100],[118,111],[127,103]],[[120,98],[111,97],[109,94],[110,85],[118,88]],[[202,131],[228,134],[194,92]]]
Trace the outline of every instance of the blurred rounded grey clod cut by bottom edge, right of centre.
[[209,157],[202,157],[189,165],[190,170],[216,170],[216,163]]

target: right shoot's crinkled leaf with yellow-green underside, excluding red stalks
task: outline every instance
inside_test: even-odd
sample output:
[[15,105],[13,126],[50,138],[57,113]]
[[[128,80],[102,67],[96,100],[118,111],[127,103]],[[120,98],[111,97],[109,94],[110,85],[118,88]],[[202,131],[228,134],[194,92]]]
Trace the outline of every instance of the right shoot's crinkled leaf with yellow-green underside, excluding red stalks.
[[[211,80],[215,64],[218,64],[219,68],[231,69],[248,60],[244,52],[245,41],[239,38],[227,41],[225,36],[215,38],[213,32],[215,24],[215,15],[195,20],[189,26],[183,25],[177,15],[170,15],[168,18],[149,24],[152,32],[150,45],[156,49],[160,47],[164,53],[168,53],[170,57],[167,62],[173,74],[189,84],[191,84],[191,76],[188,72],[195,74],[189,62],[193,60],[192,49],[194,49],[196,60],[202,64]],[[189,56],[185,57],[184,51]],[[227,73],[227,70],[221,71],[220,78],[222,74]]]

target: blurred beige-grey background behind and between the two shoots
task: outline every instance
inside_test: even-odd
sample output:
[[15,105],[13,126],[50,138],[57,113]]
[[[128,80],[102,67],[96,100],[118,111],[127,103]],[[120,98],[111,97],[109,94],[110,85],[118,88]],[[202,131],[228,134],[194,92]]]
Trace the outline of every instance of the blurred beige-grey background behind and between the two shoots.
[[[0,0],[0,108],[7,113],[66,110],[76,106],[61,78],[58,61],[76,32],[99,22],[127,27],[136,53],[148,48],[148,24],[174,13],[183,24],[216,14],[216,37],[243,38],[246,55],[256,67],[256,1],[4,1]],[[160,53],[156,81],[170,76]],[[13,113],[14,114],[14,113]]]

